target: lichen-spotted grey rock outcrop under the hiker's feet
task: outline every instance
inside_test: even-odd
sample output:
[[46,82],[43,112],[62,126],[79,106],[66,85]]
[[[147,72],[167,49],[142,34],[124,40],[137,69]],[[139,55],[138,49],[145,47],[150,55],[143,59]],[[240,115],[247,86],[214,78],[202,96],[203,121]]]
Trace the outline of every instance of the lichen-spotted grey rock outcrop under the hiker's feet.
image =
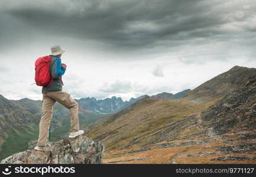
[[47,143],[48,151],[26,150],[1,161],[3,164],[99,164],[104,145],[84,135],[59,142]]

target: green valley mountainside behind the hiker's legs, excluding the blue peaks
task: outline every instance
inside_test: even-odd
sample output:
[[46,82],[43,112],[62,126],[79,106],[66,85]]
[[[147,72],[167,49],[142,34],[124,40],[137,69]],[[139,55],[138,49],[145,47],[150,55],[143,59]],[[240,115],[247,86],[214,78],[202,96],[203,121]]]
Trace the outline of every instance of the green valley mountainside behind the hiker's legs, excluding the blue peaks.
[[[35,145],[38,139],[38,124],[41,119],[41,100],[8,100],[0,95],[0,159]],[[83,127],[101,119],[103,114],[80,112]],[[53,107],[51,120],[52,140],[60,140],[69,132],[70,113],[61,104]]]

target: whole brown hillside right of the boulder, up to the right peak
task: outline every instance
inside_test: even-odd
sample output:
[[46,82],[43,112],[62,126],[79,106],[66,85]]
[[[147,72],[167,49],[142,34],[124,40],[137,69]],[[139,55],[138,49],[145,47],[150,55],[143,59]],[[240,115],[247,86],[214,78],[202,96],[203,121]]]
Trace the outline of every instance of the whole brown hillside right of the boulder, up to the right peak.
[[[210,80],[192,91],[189,99],[145,97],[87,135],[105,143],[104,163],[256,163],[252,71],[234,67],[220,81]],[[195,102],[196,94],[202,94],[197,100],[208,101]]]

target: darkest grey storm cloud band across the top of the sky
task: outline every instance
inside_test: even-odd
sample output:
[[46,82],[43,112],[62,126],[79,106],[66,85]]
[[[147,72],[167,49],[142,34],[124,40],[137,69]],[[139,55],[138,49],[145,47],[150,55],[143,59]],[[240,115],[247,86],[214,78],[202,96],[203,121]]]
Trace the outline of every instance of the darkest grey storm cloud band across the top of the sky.
[[198,0],[12,1],[2,11],[26,25],[28,32],[96,40],[115,47],[151,48],[228,33],[216,30],[229,22],[228,14],[233,12],[225,6],[234,9],[223,1]]

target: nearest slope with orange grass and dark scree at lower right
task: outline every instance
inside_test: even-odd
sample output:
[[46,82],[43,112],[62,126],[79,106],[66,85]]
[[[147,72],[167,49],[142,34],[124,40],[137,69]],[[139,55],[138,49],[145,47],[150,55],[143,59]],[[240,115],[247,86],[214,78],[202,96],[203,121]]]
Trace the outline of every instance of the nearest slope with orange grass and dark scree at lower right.
[[[110,150],[104,163],[256,163],[256,76],[202,113]],[[138,148],[141,140],[156,137]]]

